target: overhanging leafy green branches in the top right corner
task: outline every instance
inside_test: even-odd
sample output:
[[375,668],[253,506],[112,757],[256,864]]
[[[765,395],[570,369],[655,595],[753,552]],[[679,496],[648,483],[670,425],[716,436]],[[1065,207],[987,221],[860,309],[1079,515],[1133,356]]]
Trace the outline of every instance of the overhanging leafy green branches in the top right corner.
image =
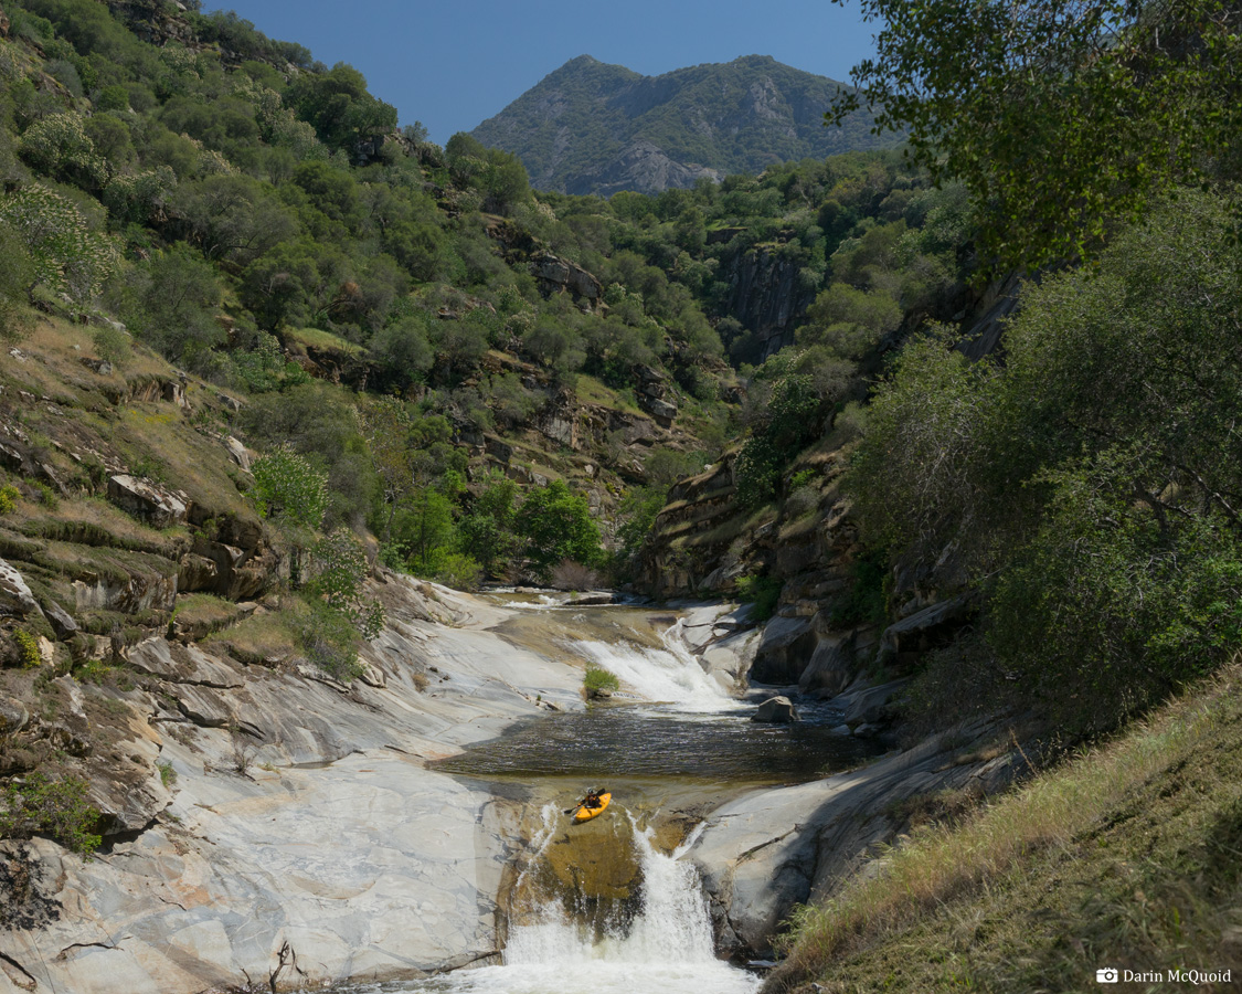
[[[1230,168],[1242,58],[1223,0],[864,0],[877,55],[830,121],[862,103],[910,129],[915,163],[980,204],[997,267],[1097,251],[1153,193]],[[945,57],[946,52],[955,57]],[[1236,166],[1236,163],[1233,163]]]

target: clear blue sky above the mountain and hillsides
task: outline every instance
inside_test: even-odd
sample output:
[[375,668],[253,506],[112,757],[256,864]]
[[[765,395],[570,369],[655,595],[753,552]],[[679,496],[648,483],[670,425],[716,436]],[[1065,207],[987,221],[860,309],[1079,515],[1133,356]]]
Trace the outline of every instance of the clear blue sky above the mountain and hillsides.
[[845,80],[871,53],[857,6],[830,0],[204,0],[265,35],[349,62],[401,123],[440,144],[580,55],[647,76],[770,55]]

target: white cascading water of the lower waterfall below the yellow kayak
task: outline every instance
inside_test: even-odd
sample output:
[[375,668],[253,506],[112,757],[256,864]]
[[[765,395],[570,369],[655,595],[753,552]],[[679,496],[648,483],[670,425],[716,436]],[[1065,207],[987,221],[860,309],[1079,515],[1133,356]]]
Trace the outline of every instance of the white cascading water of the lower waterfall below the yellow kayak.
[[[532,840],[533,869],[564,821],[549,805],[544,829]],[[544,901],[509,929],[504,965],[462,970],[437,988],[455,994],[753,994],[758,980],[715,958],[712,921],[694,865],[682,859],[692,835],[672,854],[652,845],[653,831],[630,816],[642,870],[641,906],[628,921],[612,921],[596,936]],[[518,888],[514,888],[517,893]]]

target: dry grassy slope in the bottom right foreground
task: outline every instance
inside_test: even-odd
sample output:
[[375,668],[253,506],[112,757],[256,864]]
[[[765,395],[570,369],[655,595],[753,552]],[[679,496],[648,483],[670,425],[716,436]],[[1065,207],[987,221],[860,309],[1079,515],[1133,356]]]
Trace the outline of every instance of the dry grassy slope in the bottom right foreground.
[[1237,983],[1242,666],[963,824],[914,832],[794,938],[769,993],[1090,990],[1108,965],[1232,968]]

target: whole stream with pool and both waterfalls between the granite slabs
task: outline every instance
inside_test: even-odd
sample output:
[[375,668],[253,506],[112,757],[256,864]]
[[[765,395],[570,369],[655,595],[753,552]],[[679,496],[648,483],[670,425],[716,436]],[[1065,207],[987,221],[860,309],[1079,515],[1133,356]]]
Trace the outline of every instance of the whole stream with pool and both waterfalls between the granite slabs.
[[[503,962],[338,994],[754,992],[756,974],[717,958],[686,856],[724,801],[857,765],[866,747],[831,734],[840,716],[827,707],[804,709],[795,724],[751,722],[755,704],[734,696],[744,686],[703,671],[677,611],[492,596],[519,609],[498,629],[507,639],[601,666],[621,692],[433,765],[520,808],[524,845],[499,902]],[[564,809],[591,788],[610,790],[611,805],[573,824]]]

